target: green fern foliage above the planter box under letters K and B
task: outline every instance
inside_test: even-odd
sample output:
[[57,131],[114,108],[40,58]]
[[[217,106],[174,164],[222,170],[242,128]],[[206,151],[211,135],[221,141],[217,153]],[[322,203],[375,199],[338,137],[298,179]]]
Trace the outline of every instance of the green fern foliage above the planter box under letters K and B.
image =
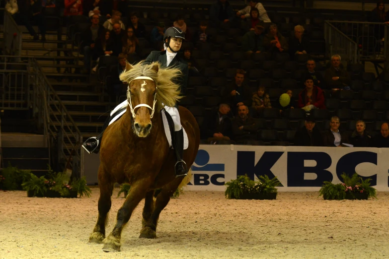
[[281,183],[277,177],[270,179],[267,175],[260,176],[258,181],[254,182],[246,175],[238,176],[225,184],[227,186],[225,195],[227,198],[240,198],[243,193],[248,194],[270,194],[277,193],[277,186]]

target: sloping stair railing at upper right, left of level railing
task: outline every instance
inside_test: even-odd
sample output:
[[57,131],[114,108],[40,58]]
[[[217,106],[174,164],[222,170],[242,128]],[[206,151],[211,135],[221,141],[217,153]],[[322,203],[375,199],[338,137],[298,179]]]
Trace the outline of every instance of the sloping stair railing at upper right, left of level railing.
[[346,62],[359,62],[358,44],[329,21],[324,22],[324,39],[327,58],[331,58],[332,55],[337,54]]

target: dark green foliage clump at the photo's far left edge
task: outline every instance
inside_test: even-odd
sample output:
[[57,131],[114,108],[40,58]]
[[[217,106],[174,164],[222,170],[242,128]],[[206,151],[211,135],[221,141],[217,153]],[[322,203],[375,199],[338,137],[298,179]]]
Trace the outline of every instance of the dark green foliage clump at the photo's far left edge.
[[20,170],[8,163],[8,166],[0,172],[0,190],[23,190],[22,183],[30,178],[30,170]]

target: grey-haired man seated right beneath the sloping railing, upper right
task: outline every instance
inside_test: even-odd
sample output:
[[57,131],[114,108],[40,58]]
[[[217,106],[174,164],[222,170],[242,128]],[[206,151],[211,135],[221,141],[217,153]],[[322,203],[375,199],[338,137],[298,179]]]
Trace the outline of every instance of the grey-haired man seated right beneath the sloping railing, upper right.
[[325,70],[325,83],[333,90],[350,89],[351,79],[347,71],[340,67],[341,58],[339,55],[331,57],[331,67]]

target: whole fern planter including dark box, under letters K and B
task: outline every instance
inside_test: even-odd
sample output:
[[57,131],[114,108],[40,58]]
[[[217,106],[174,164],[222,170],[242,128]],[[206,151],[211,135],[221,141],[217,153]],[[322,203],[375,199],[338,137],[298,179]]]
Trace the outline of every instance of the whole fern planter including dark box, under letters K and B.
[[269,179],[267,175],[260,176],[258,181],[253,181],[246,175],[238,176],[225,184],[226,197],[229,199],[276,199],[277,186],[281,183],[277,177]]

